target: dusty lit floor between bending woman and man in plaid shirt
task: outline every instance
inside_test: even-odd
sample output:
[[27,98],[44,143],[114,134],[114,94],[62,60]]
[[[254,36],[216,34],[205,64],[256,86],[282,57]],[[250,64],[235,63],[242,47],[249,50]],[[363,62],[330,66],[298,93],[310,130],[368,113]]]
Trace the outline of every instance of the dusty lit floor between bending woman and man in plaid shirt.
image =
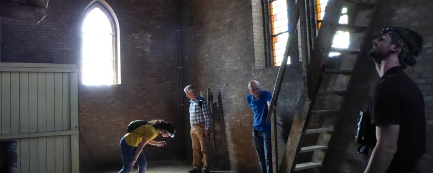
[[[146,173],[183,173],[188,172],[192,166],[188,163],[188,161],[178,161],[178,160],[164,160],[164,161],[153,161],[148,162],[148,167],[146,169]],[[137,167],[134,168],[133,172],[137,172]],[[119,170],[102,170],[97,173],[117,173]],[[213,173],[236,173],[234,171],[221,171],[221,170],[212,170],[210,172]],[[95,172],[96,173],[96,172]]]

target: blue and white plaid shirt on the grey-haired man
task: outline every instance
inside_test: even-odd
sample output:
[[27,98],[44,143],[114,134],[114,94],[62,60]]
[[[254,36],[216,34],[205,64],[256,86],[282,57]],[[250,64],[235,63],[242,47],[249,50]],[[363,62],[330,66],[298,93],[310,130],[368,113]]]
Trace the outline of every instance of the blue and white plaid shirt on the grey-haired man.
[[[199,105],[200,101],[202,101],[202,107]],[[205,123],[206,126],[204,129],[210,129],[210,114],[205,98],[197,96],[195,100],[189,100],[189,123],[191,124],[191,127],[193,127],[193,125]]]

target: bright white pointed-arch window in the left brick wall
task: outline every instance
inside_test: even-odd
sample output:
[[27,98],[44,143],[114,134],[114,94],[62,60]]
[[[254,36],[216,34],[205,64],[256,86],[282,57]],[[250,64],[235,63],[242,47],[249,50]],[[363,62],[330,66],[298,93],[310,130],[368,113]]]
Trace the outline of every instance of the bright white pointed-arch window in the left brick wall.
[[82,21],[81,82],[85,85],[121,83],[119,25],[102,0],[87,6]]

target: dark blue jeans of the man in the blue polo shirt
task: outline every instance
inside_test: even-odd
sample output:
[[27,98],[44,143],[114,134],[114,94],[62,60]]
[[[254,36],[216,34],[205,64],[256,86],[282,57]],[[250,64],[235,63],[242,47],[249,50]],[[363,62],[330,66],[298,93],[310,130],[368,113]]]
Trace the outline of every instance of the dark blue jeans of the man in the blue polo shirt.
[[254,146],[262,173],[272,173],[271,130],[257,130],[253,128]]

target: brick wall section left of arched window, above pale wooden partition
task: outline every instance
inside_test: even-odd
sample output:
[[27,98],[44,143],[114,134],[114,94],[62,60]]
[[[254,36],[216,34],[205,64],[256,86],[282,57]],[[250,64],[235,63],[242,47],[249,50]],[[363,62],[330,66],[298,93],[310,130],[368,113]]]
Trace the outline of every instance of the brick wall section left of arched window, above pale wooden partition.
[[[4,19],[2,61],[26,63],[77,63],[79,26],[85,1],[50,2],[38,25]],[[73,27],[71,27],[73,26]]]

